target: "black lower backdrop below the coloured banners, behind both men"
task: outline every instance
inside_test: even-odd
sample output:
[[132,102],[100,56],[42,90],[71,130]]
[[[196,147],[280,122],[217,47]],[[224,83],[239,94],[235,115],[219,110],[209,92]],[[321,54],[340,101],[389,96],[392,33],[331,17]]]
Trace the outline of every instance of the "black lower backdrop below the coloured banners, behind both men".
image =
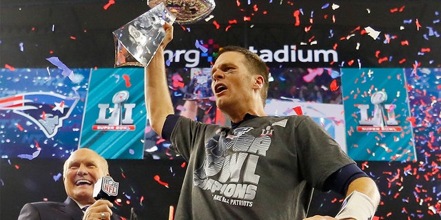
[[[134,208],[139,219],[169,218],[170,206],[176,208],[181,190],[186,169],[183,160],[115,159],[109,164],[110,175],[120,183],[114,212],[128,218]],[[62,159],[1,159],[0,219],[17,219],[28,202],[64,201],[62,166]],[[378,184],[382,202],[376,216],[380,219],[440,219],[439,165],[358,162],[358,166]],[[162,184],[155,180],[156,175]],[[334,192],[315,190],[309,216],[336,214],[342,199]]]

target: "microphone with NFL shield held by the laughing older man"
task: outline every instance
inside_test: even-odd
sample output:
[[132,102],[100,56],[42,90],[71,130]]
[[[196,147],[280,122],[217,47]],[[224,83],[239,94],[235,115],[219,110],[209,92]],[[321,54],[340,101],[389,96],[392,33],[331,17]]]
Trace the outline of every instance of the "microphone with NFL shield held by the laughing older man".
[[119,183],[114,181],[110,176],[104,176],[96,181],[94,185],[93,197],[94,199],[105,199],[114,202],[116,195],[118,195]]

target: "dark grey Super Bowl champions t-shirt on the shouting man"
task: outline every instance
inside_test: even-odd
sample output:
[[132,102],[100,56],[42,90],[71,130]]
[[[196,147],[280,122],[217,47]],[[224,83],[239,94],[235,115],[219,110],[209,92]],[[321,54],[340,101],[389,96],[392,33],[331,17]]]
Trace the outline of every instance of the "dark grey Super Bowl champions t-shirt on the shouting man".
[[354,163],[308,116],[245,118],[178,119],[171,148],[188,166],[175,219],[302,219],[312,188]]

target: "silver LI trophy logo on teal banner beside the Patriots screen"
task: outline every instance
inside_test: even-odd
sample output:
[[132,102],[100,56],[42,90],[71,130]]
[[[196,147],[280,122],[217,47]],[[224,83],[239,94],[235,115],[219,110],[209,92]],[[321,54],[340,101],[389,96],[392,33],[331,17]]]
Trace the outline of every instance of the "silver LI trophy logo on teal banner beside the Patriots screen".
[[[119,91],[112,98],[113,108],[110,104],[98,104],[99,115],[96,124],[92,126],[95,131],[134,131],[132,112],[136,104],[124,103],[129,99],[129,91]],[[110,116],[107,117],[107,110]]]

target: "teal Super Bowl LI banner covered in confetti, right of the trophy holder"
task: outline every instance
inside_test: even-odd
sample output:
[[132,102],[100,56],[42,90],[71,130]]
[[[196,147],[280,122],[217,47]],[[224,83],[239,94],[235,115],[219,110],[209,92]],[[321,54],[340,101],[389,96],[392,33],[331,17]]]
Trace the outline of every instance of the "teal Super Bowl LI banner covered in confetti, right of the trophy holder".
[[416,160],[404,69],[342,69],[347,153],[354,160]]

